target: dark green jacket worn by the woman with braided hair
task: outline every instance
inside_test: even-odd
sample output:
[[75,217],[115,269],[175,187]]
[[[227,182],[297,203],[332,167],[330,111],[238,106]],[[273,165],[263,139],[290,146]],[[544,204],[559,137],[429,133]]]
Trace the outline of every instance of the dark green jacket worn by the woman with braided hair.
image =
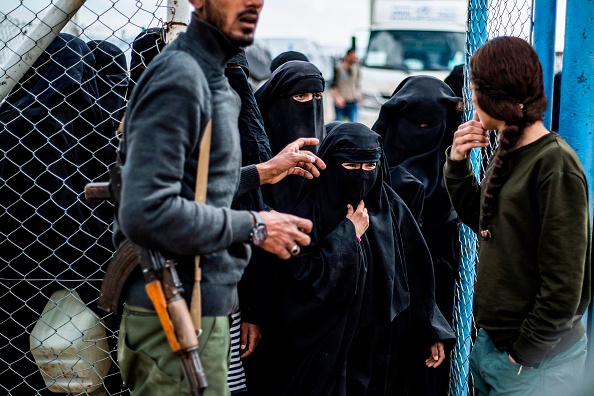
[[[579,159],[556,133],[511,156],[492,238],[479,244],[474,315],[498,348],[513,343],[523,359],[539,363],[584,333],[580,319],[591,296],[588,189]],[[460,219],[478,232],[481,186],[470,161],[452,161],[448,153],[444,175]]]

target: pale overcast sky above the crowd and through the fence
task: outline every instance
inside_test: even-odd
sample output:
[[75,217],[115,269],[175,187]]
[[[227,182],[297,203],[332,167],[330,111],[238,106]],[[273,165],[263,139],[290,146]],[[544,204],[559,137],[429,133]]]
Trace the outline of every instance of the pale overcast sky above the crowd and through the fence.
[[[51,2],[0,0],[0,12],[26,21],[33,19],[35,13],[43,15]],[[108,25],[116,34],[125,32],[135,36],[141,27],[158,26],[159,19],[166,18],[166,4],[167,0],[87,0],[79,12],[78,23],[104,30]],[[517,10],[510,13],[517,14]],[[563,46],[565,0],[558,0],[558,14],[556,47],[559,50]],[[368,25],[369,0],[266,0],[256,37],[304,37],[319,44],[346,48],[352,35],[365,40]]]

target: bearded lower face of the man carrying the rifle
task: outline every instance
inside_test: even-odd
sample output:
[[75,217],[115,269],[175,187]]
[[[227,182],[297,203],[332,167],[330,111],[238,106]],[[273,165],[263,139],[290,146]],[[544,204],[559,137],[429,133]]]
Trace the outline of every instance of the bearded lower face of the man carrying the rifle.
[[238,47],[254,42],[264,0],[190,0],[198,16]]

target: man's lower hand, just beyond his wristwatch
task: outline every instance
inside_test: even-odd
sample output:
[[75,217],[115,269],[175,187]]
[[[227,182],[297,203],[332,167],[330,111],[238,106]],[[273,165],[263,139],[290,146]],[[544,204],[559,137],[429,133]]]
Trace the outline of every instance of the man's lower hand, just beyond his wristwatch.
[[307,246],[311,242],[307,235],[313,227],[310,220],[279,212],[260,212],[260,215],[268,234],[260,247],[267,252],[286,260],[299,254],[299,245]]

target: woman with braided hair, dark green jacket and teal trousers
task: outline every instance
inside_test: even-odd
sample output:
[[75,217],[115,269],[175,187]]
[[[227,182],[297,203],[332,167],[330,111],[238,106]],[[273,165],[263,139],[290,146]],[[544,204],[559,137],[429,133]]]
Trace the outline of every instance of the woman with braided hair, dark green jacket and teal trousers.
[[[460,219],[480,235],[470,356],[478,395],[559,395],[584,372],[590,301],[586,177],[543,125],[543,72],[524,40],[498,37],[470,60],[475,115],[454,134],[444,177]],[[479,185],[472,148],[499,147]]]

